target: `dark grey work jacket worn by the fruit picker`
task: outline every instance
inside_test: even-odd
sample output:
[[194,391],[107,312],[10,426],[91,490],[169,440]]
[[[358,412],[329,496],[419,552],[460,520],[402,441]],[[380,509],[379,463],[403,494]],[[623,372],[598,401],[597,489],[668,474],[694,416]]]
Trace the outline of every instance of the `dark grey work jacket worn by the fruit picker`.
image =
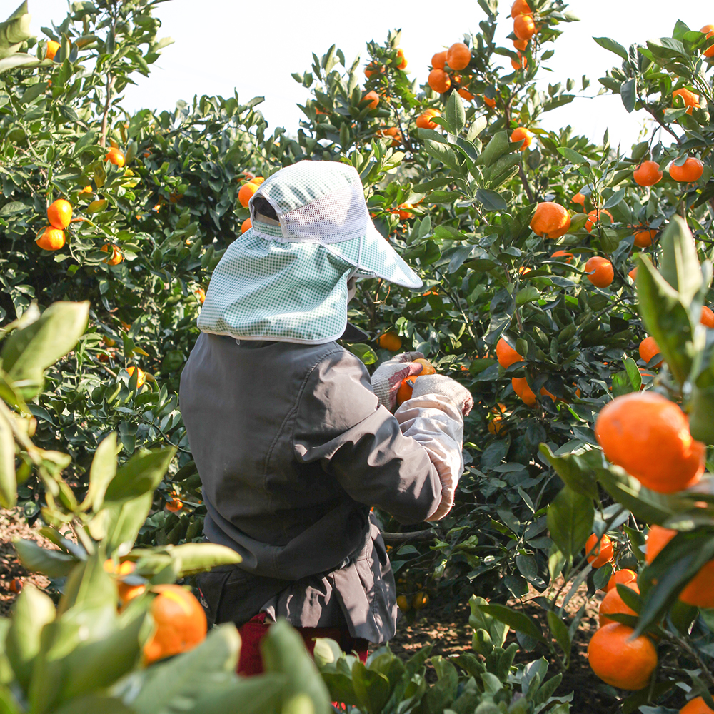
[[335,342],[201,333],[180,401],[204,533],[243,558],[199,580],[209,615],[240,625],[268,605],[298,627],[346,622],[353,637],[388,640],[396,592],[369,508],[421,523],[441,483],[363,363]]

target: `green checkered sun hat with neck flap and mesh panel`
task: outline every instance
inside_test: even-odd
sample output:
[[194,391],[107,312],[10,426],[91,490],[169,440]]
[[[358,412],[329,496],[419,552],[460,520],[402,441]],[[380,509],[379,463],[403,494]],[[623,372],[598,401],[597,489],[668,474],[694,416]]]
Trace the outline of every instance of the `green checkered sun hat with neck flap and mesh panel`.
[[[277,221],[256,211],[259,198]],[[202,332],[327,343],[346,329],[349,278],[422,285],[374,227],[353,166],[287,166],[263,181],[248,208],[252,228],[228,246],[213,271],[198,317]]]

